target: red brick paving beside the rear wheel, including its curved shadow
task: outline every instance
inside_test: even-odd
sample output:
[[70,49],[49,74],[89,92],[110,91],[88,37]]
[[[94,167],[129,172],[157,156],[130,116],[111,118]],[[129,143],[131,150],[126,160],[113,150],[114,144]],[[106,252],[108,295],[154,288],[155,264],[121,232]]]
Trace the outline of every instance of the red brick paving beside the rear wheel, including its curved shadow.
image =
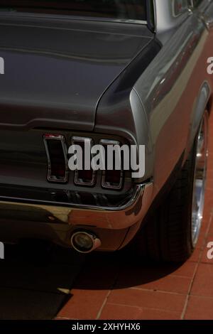
[[192,257],[181,266],[134,264],[92,254],[57,319],[213,319],[213,114],[204,220]]

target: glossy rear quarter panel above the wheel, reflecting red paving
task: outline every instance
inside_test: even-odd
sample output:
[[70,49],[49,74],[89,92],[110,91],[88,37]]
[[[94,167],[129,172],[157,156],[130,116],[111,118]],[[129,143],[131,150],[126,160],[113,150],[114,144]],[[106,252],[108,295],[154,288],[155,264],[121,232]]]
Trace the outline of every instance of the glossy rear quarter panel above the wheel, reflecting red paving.
[[[211,38],[204,21],[189,13],[178,29],[167,33],[163,48],[134,85],[153,143],[153,195],[163,187],[183,152],[186,156],[212,92],[212,78],[207,75]],[[199,116],[193,124],[196,113]]]

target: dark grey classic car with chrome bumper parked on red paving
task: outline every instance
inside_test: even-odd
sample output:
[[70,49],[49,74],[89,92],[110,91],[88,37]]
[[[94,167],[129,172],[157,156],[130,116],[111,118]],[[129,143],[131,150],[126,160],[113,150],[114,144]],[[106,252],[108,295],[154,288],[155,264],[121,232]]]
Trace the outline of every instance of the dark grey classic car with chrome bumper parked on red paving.
[[[1,0],[1,242],[187,259],[202,224],[211,57],[211,0]],[[144,146],[143,176],[71,170],[69,147],[86,141]]]

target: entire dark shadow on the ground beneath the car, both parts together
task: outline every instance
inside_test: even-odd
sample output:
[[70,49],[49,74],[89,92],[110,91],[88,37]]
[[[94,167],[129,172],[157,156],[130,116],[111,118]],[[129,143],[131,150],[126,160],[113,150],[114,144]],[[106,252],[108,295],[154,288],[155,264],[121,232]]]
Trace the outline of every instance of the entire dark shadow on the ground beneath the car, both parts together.
[[[179,265],[180,266],[180,265]],[[34,241],[6,246],[0,261],[0,319],[52,319],[70,289],[124,289],[167,276],[170,264],[136,262],[126,252],[90,254]]]

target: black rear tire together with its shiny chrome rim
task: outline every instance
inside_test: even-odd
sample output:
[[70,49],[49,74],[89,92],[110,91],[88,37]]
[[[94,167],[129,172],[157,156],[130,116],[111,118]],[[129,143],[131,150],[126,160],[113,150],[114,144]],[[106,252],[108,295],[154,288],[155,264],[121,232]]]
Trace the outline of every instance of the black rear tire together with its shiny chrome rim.
[[148,215],[148,221],[134,239],[136,255],[155,261],[182,262],[195,249],[204,205],[207,125],[208,113],[204,112],[192,150],[173,188],[160,207]]

